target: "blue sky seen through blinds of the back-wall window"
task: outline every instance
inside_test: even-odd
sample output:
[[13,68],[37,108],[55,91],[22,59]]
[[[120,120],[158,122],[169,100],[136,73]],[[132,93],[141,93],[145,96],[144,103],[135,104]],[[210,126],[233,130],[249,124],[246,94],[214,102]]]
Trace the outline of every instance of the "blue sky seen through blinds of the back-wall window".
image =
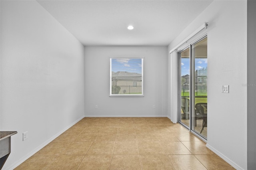
[[141,73],[142,59],[130,58],[130,59],[112,59],[112,71],[127,71],[131,73]]

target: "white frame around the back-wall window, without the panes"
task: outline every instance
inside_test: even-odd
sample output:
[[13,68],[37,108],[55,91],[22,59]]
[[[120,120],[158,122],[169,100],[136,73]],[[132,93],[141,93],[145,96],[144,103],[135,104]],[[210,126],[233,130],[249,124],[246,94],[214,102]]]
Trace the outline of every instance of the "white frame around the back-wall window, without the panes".
[[[141,83],[142,94],[112,94],[112,59],[141,59]],[[144,97],[144,57],[110,57],[110,95],[109,97]]]

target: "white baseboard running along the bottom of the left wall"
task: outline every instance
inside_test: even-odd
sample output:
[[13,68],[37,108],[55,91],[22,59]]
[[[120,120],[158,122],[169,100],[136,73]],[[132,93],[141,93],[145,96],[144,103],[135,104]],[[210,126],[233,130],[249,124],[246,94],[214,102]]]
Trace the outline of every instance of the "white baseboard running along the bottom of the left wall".
[[60,132],[58,132],[57,134],[55,134],[54,136],[52,136],[50,139],[46,140],[44,143],[42,143],[40,146],[38,146],[36,149],[32,150],[30,153],[28,153],[26,156],[24,156],[23,158],[21,158],[21,160],[18,160],[17,162],[14,162],[11,166],[9,166],[8,168],[6,168],[6,170],[13,170],[14,168],[16,168],[17,166],[19,166],[20,164],[22,164],[25,160],[27,160],[28,158],[30,158],[32,155],[34,155],[36,152],[38,152],[39,150],[41,150],[44,146],[46,146],[47,144],[49,144],[50,142],[52,142],[52,140],[54,140],[55,138],[57,138],[58,136],[60,136],[60,134],[62,134],[63,132],[65,132],[66,130],[68,130],[70,127],[72,127],[73,125],[75,125],[76,123],[78,123],[80,120],[82,120],[84,118],[84,116],[80,117],[78,120],[74,121],[73,123],[71,123],[70,125],[68,125],[66,128],[64,128],[63,130],[61,130]]

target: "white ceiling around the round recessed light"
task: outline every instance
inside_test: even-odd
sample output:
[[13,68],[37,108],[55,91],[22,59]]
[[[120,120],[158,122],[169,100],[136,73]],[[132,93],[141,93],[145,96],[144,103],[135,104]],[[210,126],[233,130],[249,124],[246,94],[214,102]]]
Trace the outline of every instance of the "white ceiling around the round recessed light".
[[[84,45],[168,45],[212,0],[37,0]],[[128,30],[129,25],[134,30]]]

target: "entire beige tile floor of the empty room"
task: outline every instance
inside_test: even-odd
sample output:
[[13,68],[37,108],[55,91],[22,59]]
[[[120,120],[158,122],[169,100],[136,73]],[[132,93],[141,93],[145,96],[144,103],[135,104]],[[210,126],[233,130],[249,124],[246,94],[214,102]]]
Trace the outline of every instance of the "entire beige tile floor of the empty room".
[[84,118],[16,170],[234,169],[168,118]]

